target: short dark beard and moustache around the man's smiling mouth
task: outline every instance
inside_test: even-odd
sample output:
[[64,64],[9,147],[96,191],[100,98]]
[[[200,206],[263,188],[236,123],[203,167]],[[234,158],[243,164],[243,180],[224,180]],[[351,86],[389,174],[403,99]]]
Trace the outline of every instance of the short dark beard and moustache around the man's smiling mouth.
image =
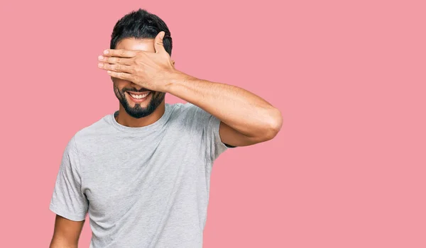
[[153,113],[155,109],[157,109],[158,106],[160,106],[161,102],[163,102],[165,98],[164,92],[151,91],[150,93],[151,100],[149,101],[146,107],[141,107],[141,103],[135,103],[135,106],[131,107],[129,101],[127,101],[127,98],[126,98],[126,94],[125,94],[126,91],[143,92],[143,91],[146,91],[146,89],[141,89],[139,91],[134,88],[119,89],[114,84],[114,93],[116,97],[119,99],[121,106],[123,106],[126,113],[128,113],[131,117],[137,118],[137,119],[151,115],[151,113]]

